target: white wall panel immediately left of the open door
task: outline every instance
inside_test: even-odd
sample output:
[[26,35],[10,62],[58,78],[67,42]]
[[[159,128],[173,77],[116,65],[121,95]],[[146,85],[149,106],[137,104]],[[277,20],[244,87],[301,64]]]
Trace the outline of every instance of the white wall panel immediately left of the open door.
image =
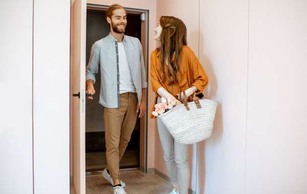
[[69,193],[70,1],[34,1],[34,192]]

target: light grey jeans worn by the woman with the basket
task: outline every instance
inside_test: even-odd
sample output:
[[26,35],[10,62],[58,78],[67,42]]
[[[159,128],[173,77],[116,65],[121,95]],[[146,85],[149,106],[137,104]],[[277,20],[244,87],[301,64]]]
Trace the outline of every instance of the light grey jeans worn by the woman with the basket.
[[[158,98],[157,102],[160,103],[161,99]],[[188,146],[174,141],[159,117],[157,117],[157,126],[171,184],[179,184],[179,193],[188,194],[190,179]]]

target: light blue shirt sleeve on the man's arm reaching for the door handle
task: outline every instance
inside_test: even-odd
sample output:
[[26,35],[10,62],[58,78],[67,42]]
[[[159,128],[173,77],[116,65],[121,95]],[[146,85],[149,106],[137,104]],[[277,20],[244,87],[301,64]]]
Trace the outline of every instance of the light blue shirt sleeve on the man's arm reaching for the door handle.
[[95,42],[92,46],[89,63],[87,64],[85,70],[85,79],[93,80],[94,84],[96,82],[96,75],[99,69],[99,61],[100,61],[100,46],[98,45],[98,42]]

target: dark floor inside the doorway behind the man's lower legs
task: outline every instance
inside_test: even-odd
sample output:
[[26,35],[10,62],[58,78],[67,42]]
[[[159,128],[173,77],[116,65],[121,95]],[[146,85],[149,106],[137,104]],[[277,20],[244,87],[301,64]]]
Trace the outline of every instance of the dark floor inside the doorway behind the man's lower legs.
[[[126,150],[123,158],[120,161],[120,166],[139,166],[139,151]],[[105,152],[95,152],[85,154],[86,172],[91,169],[103,169],[106,167]]]

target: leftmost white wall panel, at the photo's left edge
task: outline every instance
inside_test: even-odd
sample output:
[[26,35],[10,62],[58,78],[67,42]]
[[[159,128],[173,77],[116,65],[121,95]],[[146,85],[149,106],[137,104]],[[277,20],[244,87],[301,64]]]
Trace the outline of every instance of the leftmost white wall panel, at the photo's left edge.
[[0,193],[33,193],[33,1],[0,1]]

